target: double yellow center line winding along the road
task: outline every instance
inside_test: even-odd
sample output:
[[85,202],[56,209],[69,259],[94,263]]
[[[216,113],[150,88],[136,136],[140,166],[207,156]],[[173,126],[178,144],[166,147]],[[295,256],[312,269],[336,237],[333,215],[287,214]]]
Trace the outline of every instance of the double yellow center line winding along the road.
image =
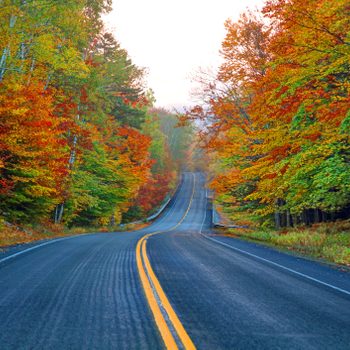
[[156,277],[150,261],[147,256],[147,239],[159,233],[170,232],[175,230],[186,218],[188,212],[190,211],[193,197],[195,191],[195,177],[193,175],[193,188],[191,199],[186,209],[185,214],[182,216],[181,220],[173,227],[164,231],[156,231],[143,236],[136,245],[136,263],[139,270],[141,282],[143,289],[146,294],[148,304],[153,313],[153,317],[156,321],[159,332],[162,336],[164,344],[167,349],[178,349],[179,346],[175,340],[174,334],[171,332],[168,323],[165,321],[164,315],[162,313],[161,307],[166,313],[169,323],[172,328],[176,331],[178,339],[181,341],[185,349],[196,349],[191,338],[187,334],[185,328],[183,327],[181,321],[177,317],[174,309],[172,308],[167,296],[161,287],[158,278]]

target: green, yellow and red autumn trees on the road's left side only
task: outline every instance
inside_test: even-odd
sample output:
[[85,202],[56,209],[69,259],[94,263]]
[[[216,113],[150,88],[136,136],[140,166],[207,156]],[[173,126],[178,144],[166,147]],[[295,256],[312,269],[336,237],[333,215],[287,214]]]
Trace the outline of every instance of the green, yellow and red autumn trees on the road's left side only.
[[111,0],[0,1],[0,226],[106,227],[172,190],[191,127],[153,108]]

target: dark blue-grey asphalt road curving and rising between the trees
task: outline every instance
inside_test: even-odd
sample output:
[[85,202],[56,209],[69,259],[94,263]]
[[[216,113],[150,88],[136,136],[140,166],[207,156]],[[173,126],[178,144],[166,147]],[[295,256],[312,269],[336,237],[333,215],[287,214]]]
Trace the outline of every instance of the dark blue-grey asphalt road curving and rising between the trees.
[[146,229],[0,255],[0,348],[350,349],[348,273],[210,220],[204,176],[185,173]]

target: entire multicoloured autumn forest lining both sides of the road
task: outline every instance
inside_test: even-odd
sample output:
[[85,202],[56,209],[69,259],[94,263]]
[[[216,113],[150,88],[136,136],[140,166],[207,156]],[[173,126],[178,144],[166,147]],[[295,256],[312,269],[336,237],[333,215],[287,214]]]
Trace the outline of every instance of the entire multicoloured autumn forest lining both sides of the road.
[[105,29],[111,0],[0,6],[1,227],[142,219],[202,157],[198,137],[236,224],[349,218],[348,1],[268,0],[228,19],[222,64],[181,115],[154,107],[146,70]]

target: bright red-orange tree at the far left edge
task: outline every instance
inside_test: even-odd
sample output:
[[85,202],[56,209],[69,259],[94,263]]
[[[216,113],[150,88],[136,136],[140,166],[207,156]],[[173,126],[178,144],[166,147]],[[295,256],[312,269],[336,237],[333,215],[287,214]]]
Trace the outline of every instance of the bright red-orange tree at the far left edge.
[[62,198],[69,171],[63,120],[54,114],[55,91],[13,82],[0,89],[1,210],[21,220],[47,215]]

